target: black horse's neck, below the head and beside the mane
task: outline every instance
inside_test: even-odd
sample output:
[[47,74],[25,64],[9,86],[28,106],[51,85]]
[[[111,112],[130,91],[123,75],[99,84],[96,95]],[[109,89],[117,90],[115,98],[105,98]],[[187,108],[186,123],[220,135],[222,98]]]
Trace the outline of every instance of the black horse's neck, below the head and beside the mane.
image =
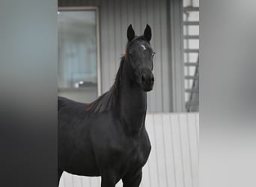
[[128,76],[121,78],[120,114],[124,126],[132,135],[139,135],[144,128],[147,111],[147,93],[137,83],[132,83]]

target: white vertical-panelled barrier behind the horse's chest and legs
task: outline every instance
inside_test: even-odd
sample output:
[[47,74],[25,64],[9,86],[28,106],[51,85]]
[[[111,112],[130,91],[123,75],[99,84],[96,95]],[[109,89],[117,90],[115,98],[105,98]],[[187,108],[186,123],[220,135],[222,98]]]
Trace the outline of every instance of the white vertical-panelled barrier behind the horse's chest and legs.
[[[146,128],[152,150],[141,187],[198,187],[199,114],[147,114]],[[60,186],[100,187],[100,177],[64,172]]]

